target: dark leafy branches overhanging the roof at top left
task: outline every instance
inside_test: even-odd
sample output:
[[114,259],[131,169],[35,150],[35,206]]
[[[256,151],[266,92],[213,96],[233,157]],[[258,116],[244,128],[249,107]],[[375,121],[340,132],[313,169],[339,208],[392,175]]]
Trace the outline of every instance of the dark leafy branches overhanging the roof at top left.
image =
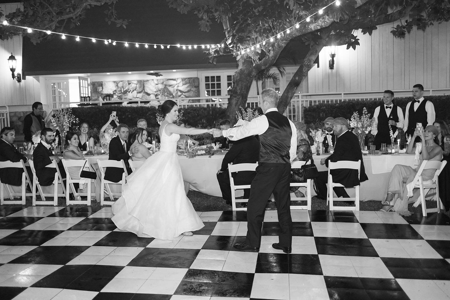
[[[116,24],[123,28],[130,20],[119,19],[114,6],[117,0],[27,0],[23,1],[23,9],[16,9],[5,16],[9,24],[17,26],[29,26],[33,24],[36,29],[56,32],[66,32],[85,18],[87,9],[93,6],[109,4],[105,22]],[[4,13],[0,11],[0,17]],[[54,35],[47,35],[45,32],[35,31],[28,33],[25,29],[14,26],[0,26],[0,40],[8,40],[14,35],[26,35],[34,44],[42,40],[49,40]]]

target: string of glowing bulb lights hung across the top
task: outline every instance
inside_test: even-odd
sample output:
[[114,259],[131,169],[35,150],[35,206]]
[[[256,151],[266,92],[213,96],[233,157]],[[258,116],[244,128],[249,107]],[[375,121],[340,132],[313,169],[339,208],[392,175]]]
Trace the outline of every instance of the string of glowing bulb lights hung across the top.
[[[326,9],[327,7],[329,7],[332,4],[336,4],[336,5],[340,5],[341,2],[340,0],[335,0],[333,2],[331,2],[330,4],[324,6],[322,9],[319,9],[317,12],[311,14],[310,16],[308,16],[307,18],[303,19],[300,22],[297,22],[295,25],[285,29],[284,31],[280,31],[279,33],[277,33],[276,35],[270,36],[269,38],[267,38],[266,40],[263,40],[261,42],[259,42],[258,44],[255,44],[253,46],[247,47],[245,49],[241,50],[241,53],[245,53],[245,52],[249,52],[250,50],[254,50],[255,47],[260,48],[261,45],[265,45],[268,41],[273,42],[275,40],[275,38],[280,39],[282,36],[284,36],[284,34],[288,34],[290,33],[294,28],[299,28],[300,23],[302,22],[310,22],[311,21],[311,17],[313,17],[316,14],[323,14],[324,13],[324,9]],[[18,28],[22,28],[25,29],[28,33],[31,33],[33,31],[41,31],[41,32],[45,32],[47,35],[51,35],[51,34],[55,34],[55,35],[61,35],[61,39],[65,40],[67,37],[74,37],[76,41],[80,41],[81,39],[87,39],[87,40],[91,40],[93,43],[97,42],[97,41],[103,41],[104,44],[112,44],[112,45],[116,45],[116,44],[124,44],[125,47],[128,47],[129,45],[135,45],[136,48],[139,48],[139,46],[144,46],[144,48],[149,48],[151,46],[153,46],[153,48],[157,49],[169,49],[170,47],[177,47],[177,48],[182,48],[182,49],[197,49],[197,48],[201,48],[201,49],[211,49],[211,48],[220,48],[220,47],[224,47],[224,44],[158,44],[158,43],[139,43],[139,42],[127,42],[127,41],[121,41],[121,40],[112,40],[112,39],[98,39],[98,38],[94,38],[94,37],[89,37],[89,36],[82,36],[82,35],[70,35],[67,33],[61,33],[61,32],[55,32],[55,31],[50,31],[50,30],[43,30],[43,29],[37,29],[37,28],[31,28],[31,27],[27,27],[27,26],[18,26],[18,25],[13,25],[13,24],[9,24],[8,21],[4,20],[2,22],[2,24],[4,26],[13,26],[13,27],[18,27]]]

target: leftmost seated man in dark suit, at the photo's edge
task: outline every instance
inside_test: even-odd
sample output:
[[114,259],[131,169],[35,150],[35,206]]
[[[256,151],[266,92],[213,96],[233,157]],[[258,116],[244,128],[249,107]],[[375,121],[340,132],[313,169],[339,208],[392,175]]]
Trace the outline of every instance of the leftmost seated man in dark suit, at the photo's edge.
[[[16,147],[14,147],[14,140],[16,138],[16,132],[12,127],[4,127],[0,131],[0,161],[11,161],[17,163],[23,160],[24,163],[31,159],[33,156],[31,154],[22,154]],[[32,180],[33,175],[31,169],[27,167],[28,175],[30,180]],[[2,183],[9,185],[22,185],[22,168],[3,168],[0,169],[0,179]]]

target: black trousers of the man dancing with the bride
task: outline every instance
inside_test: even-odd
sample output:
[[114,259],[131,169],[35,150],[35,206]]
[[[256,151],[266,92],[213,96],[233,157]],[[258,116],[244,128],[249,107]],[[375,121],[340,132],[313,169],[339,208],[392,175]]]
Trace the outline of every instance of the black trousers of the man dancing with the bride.
[[290,163],[258,163],[247,205],[247,238],[245,242],[247,245],[260,247],[266,204],[273,193],[280,225],[279,245],[292,246],[292,219],[289,207],[291,200],[289,195],[290,177]]

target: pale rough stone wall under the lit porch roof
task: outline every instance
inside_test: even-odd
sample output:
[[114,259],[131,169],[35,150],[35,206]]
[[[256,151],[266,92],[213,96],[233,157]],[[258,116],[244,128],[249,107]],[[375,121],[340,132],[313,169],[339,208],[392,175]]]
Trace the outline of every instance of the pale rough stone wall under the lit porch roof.
[[90,84],[91,100],[102,101],[109,95],[111,100],[149,100],[200,97],[198,77],[94,81]]

